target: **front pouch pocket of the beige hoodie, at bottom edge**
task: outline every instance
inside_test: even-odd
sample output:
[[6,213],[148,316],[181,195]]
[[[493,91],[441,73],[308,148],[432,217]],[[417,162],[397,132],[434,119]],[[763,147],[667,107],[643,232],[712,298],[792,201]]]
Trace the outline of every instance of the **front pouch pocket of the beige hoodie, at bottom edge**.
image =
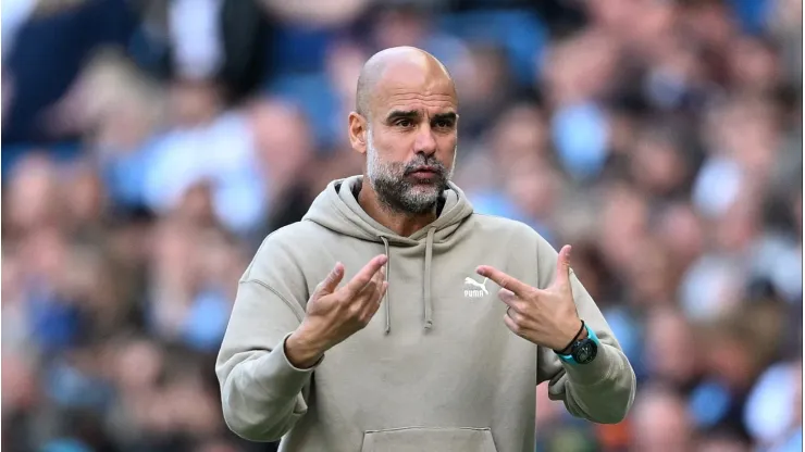
[[407,427],[363,435],[361,452],[497,452],[492,430],[467,427]]

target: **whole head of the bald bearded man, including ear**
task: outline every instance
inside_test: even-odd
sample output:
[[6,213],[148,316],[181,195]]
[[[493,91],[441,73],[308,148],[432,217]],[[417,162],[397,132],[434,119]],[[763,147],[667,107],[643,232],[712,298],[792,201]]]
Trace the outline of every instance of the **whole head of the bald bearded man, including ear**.
[[392,48],[364,64],[349,140],[385,208],[421,214],[436,204],[455,164],[457,109],[453,79],[428,52]]

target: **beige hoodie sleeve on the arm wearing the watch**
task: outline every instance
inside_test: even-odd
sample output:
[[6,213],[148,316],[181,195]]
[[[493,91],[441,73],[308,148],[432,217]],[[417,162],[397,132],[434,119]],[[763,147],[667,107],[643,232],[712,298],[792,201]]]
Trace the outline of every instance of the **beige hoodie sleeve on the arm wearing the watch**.
[[[558,252],[542,237],[537,244],[538,286],[554,280]],[[585,365],[568,364],[553,350],[537,350],[537,385],[548,380],[548,395],[561,400],[568,412],[599,424],[616,424],[627,416],[635,393],[635,376],[629,360],[604,315],[579,278],[570,273],[571,290],[579,316],[592,328],[602,347]]]

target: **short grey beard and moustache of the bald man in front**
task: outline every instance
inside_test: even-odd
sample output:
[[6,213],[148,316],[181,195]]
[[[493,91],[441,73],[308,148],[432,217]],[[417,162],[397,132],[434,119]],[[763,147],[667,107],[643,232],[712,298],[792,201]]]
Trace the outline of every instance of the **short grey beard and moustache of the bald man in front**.
[[[372,133],[367,143],[367,175],[381,204],[392,211],[408,214],[424,214],[436,208],[442,193],[448,188],[447,168],[436,160],[416,159],[409,163],[383,163],[374,148]],[[437,170],[432,183],[413,184],[405,176],[411,170],[428,164]]]

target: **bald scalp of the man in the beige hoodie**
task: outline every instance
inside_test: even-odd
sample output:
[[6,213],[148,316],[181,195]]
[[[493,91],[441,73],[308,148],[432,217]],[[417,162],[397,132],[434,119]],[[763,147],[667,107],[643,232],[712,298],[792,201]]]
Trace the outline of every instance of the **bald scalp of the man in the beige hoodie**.
[[448,83],[453,95],[456,88],[447,67],[435,56],[416,47],[393,47],[372,55],[360,71],[356,96],[356,111],[369,117],[372,99],[395,81],[439,80]]

